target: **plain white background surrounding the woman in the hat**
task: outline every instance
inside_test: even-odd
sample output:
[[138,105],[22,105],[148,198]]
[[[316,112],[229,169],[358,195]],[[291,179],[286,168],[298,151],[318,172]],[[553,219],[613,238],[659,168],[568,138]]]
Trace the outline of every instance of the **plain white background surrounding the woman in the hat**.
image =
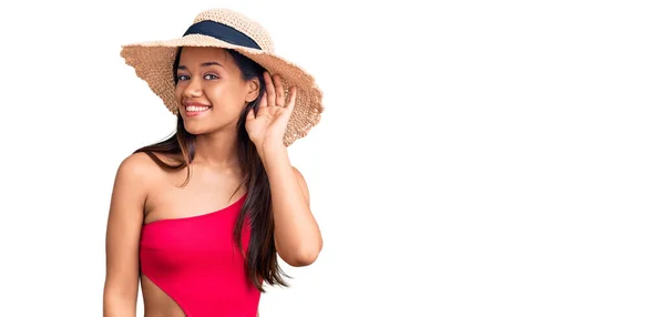
[[325,92],[325,247],[262,317],[664,316],[657,4],[6,1],[0,315],[102,315],[117,164],[174,129],[120,45],[227,7]]

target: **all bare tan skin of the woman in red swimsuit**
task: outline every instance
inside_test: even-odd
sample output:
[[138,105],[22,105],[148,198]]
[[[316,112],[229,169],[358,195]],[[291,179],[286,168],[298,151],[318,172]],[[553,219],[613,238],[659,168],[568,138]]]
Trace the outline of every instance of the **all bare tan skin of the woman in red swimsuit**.
[[[185,316],[171,297],[140,275],[142,225],[218,211],[247,191],[233,194],[243,176],[234,153],[236,123],[248,102],[256,100],[258,79],[243,80],[238,67],[222,49],[184,48],[181,65],[175,89],[180,112],[186,113],[185,104],[190,102],[212,105],[197,116],[183,115],[185,129],[196,134],[192,177],[185,187],[178,187],[186,170],[166,172],[143,153],[130,155],[121,163],[106,228],[105,317],[136,316],[139,284],[145,316]],[[267,95],[258,112],[248,115],[246,129],[270,182],[277,253],[291,266],[306,266],[318,257],[323,238],[309,209],[307,183],[290,165],[283,144],[297,90],[289,89],[293,93],[287,101],[279,76],[265,74],[265,79]]]

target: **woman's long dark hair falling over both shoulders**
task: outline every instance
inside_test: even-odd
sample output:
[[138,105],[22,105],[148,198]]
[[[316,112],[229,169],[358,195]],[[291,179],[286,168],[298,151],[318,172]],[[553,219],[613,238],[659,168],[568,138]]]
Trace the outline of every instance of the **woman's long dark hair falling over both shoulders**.
[[[175,83],[177,83],[177,67],[180,64],[181,52],[182,48],[178,49],[175,62],[173,63],[173,78]],[[258,108],[258,103],[265,93],[265,80],[263,78],[265,69],[234,50],[227,50],[227,52],[241,69],[244,80],[258,78],[260,83],[258,98],[243,110],[237,124],[237,153],[243,174],[241,186],[247,188],[247,196],[235,224],[233,236],[236,246],[243,250],[241,234],[245,221],[248,219],[252,235],[249,238],[248,252],[247,254],[243,253],[247,268],[247,278],[259,292],[264,293],[264,282],[269,285],[288,286],[283,276],[289,277],[282,270],[277,263],[277,249],[274,239],[275,222],[273,218],[268,176],[260,157],[258,156],[256,146],[249,140],[249,135],[245,130],[247,113],[250,110]],[[196,135],[193,135],[185,130],[183,117],[178,114],[176,130],[171,137],[141,147],[134,153],[143,152],[147,154],[162,168],[168,171],[187,168],[187,177],[183,184],[186,185],[192,175],[190,163],[194,160],[194,155],[196,154],[194,149],[195,139]],[[177,164],[170,164],[157,157],[154,153],[167,154],[171,157],[180,158],[175,158]],[[237,190],[239,190],[239,187]]]

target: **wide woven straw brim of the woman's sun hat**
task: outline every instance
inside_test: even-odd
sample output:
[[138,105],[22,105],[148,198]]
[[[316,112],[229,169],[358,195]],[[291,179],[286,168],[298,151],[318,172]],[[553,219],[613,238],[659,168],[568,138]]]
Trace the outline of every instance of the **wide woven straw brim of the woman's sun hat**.
[[[324,111],[323,93],[314,76],[296,64],[275,53],[235,45],[213,37],[188,34],[166,41],[151,41],[122,47],[121,57],[134,68],[136,75],[144,80],[150,89],[162,99],[168,111],[177,115],[173,62],[181,47],[213,47],[232,49],[254,60],[272,74],[279,74],[285,88],[297,86],[298,95],[284,135],[286,146],[304,137],[318,124]],[[287,95],[288,100],[288,95]]]

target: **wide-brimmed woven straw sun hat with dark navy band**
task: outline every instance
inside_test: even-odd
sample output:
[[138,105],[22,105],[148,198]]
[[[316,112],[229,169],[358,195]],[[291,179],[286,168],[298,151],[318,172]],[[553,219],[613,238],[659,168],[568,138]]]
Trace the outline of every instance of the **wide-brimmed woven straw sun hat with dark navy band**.
[[[134,68],[136,75],[147,82],[166,108],[177,115],[173,63],[178,47],[215,47],[233,49],[279,74],[285,88],[296,85],[298,95],[284,135],[286,146],[307,135],[324,111],[321,91],[304,69],[278,57],[273,40],[257,22],[228,9],[211,9],[196,16],[182,38],[132,43],[122,47],[121,57]],[[287,92],[286,100],[289,95]]]

